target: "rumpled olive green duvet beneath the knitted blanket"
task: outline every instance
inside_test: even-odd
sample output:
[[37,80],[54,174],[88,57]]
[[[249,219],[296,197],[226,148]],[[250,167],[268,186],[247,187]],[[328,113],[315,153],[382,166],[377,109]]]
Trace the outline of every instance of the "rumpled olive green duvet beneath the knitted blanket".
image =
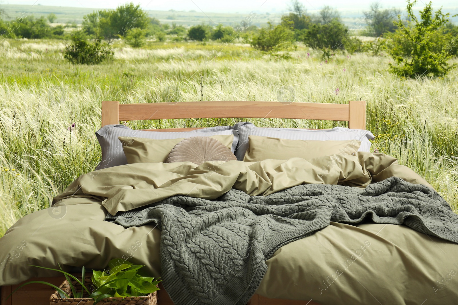
[[[0,239],[0,284],[55,275],[30,264],[55,267],[59,262],[68,268],[101,269],[115,257],[142,263],[153,276],[160,276],[161,232],[154,225],[124,228],[104,221],[107,210],[115,214],[138,207],[129,200],[135,189],[144,191],[135,203],[144,196],[147,204],[151,192],[158,200],[176,194],[216,198],[232,186],[265,195],[303,183],[365,187],[392,176],[428,185],[382,154],[327,156],[310,162],[230,162],[201,167],[129,165],[132,173],[126,183],[110,187],[122,166],[83,175],[56,198],[53,207],[18,220]],[[142,188],[138,180],[147,172],[153,189]],[[98,184],[101,179],[104,183]],[[278,249],[266,261],[267,273],[256,293],[321,304],[455,304],[457,253],[457,244],[402,225],[332,222]]]

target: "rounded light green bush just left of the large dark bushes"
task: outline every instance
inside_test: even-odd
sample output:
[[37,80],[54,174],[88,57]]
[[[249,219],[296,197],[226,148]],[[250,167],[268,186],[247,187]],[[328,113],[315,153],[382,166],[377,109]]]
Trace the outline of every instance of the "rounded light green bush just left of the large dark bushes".
[[254,35],[251,46],[255,49],[269,52],[274,48],[276,51],[287,50],[293,45],[294,33],[289,27],[283,25],[273,26],[268,22],[268,27],[261,28]]

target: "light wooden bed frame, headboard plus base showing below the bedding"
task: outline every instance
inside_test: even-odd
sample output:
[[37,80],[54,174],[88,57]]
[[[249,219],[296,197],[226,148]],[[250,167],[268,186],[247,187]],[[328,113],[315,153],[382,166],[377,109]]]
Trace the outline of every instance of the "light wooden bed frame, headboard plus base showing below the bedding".
[[[102,127],[119,121],[177,119],[177,118],[294,118],[348,121],[349,128],[366,129],[365,101],[348,104],[303,102],[176,102],[120,104],[102,102]],[[190,131],[200,128],[163,128],[151,131]],[[35,278],[59,286],[64,278]],[[54,289],[43,284],[31,284],[6,297],[17,285],[2,286],[0,305],[48,305]],[[281,289],[281,288],[280,288]],[[255,294],[249,305],[316,305],[310,301],[268,299]],[[158,291],[158,305],[173,305],[164,289]]]

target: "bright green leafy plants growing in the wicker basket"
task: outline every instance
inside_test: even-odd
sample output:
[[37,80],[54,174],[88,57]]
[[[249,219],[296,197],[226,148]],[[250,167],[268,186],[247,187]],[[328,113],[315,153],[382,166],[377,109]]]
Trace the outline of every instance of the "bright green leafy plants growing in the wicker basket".
[[[161,282],[160,280],[155,280],[155,278],[147,277],[144,274],[142,274],[140,272],[140,269],[144,267],[143,265],[134,265],[133,263],[120,258],[112,259],[109,262],[109,271],[93,270],[92,283],[94,289],[86,287],[86,285],[83,284],[84,278],[86,277],[86,268],[84,267],[82,268],[81,274],[82,280],[79,280],[74,275],[63,271],[60,265],[60,270],[34,265],[29,266],[63,273],[65,279],[69,283],[71,289],[71,296],[73,298],[82,298],[83,295],[86,294],[87,298],[94,299],[94,305],[96,305],[103,299],[111,297],[123,298],[130,296],[148,295],[156,290],[159,290],[159,288],[156,285],[159,284],[159,282]],[[81,292],[77,292],[77,289],[73,285],[71,278],[82,287]],[[44,281],[29,281],[27,283],[20,285],[11,294],[15,293],[16,290],[28,284],[45,284],[56,289],[61,298],[71,297],[69,294],[65,293],[65,291],[60,289],[59,287]],[[11,294],[8,296],[8,298],[11,296]]]

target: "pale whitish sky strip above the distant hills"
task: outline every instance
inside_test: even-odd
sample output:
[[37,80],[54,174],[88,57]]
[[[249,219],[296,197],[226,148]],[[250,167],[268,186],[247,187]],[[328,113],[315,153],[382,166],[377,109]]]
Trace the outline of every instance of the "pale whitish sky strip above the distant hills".
[[[131,0],[0,0],[0,4],[26,4],[26,5],[53,5],[84,8],[116,8]],[[283,12],[288,7],[288,0],[132,0],[140,4],[143,9],[154,11],[204,11],[204,12],[228,12],[249,13],[250,11]],[[330,5],[339,11],[362,11],[366,10],[371,0],[301,0],[309,12],[319,10],[323,5]],[[416,6],[424,6],[426,0],[418,0]],[[404,0],[380,0],[383,8],[405,8]],[[457,0],[434,0],[434,7],[455,8]]]

